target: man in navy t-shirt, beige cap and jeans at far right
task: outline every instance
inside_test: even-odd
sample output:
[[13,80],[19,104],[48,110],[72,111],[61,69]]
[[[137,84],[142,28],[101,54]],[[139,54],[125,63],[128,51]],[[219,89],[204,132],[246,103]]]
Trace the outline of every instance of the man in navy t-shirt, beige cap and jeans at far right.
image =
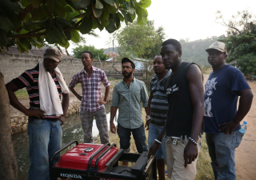
[[234,151],[243,135],[238,130],[250,110],[253,94],[241,71],[226,65],[224,43],[214,42],[206,52],[213,67],[205,85],[203,124],[206,142],[215,179],[233,180],[236,179]]

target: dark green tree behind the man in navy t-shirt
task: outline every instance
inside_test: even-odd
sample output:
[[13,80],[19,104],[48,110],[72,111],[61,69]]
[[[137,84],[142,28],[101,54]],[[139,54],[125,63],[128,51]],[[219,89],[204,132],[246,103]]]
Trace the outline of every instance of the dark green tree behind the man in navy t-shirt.
[[[220,17],[222,18],[222,17]],[[243,74],[256,74],[256,17],[247,10],[238,11],[227,26],[228,38],[218,39],[226,44],[228,58],[226,62],[237,62]]]

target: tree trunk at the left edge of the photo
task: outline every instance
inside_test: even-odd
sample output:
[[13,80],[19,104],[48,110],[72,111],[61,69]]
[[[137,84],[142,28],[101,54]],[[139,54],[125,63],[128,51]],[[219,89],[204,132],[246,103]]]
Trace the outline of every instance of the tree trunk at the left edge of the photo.
[[10,101],[0,72],[0,179],[17,180],[18,167],[10,134]]

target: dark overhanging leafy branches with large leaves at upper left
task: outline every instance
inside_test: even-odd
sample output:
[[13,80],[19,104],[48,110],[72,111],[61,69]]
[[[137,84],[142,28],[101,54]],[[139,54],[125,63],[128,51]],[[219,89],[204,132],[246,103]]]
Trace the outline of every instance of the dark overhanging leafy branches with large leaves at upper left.
[[17,45],[20,52],[43,42],[69,47],[79,42],[80,31],[104,28],[113,33],[120,22],[147,22],[151,0],[2,0],[0,6],[0,50]]

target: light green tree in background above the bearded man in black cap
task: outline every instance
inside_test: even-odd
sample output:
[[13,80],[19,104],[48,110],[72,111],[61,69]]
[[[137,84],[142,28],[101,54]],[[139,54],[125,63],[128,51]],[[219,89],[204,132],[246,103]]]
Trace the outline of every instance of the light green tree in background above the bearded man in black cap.
[[164,29],[159,27],[155,30],[152,21],[142,26],[139,26],[138,22],[133,22],[114,34],[114,38],[118,41],[121,58],[154,58],[159,54],[164,37]]

